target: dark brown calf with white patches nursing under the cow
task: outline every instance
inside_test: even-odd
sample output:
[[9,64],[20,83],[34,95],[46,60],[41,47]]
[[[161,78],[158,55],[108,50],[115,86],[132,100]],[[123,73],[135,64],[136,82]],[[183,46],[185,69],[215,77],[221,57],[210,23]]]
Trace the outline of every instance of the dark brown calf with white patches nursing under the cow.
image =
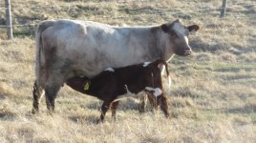
[[118,100],[124,96],[138,96],[136,94],[139,92],[146,92],[154,107],[160,105],[160,110],[168,116],[167,99],[163,95],[161,84],[161,64],[165,66],[167,75],[169,75],[166,62],[157,60],[123,68],[109,68],[92,79],[88,77],[70,78],[66,84],[77,92],[103,100],[98,121],[104,120],[105,113],[110,107],[113,117],[116,117]]

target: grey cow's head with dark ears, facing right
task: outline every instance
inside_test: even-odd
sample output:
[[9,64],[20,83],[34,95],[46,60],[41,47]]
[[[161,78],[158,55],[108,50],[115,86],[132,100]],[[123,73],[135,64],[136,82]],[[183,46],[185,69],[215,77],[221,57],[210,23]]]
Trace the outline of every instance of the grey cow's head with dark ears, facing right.
[[191,48],[188,44],[188,34],[191,31],[198,31],[198,25],[185,27],[181,24],[180,20],[176,20],[170,24],[163,24],[160,26],[161,30],[168,34],[168,42],[171,51],[175,54],[186,56],[191,54]]

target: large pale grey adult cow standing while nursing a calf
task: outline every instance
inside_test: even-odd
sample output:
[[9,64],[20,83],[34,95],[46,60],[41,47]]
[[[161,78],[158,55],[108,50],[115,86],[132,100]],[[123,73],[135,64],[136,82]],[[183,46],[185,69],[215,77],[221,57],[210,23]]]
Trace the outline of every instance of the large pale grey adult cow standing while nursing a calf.
[[180,20],[158,26],[116,27],[92,21],[46,20],[35,33],[36,59],[32,113],[39,112],[45,94],[50,114],[57,92],[74,76],[92,78],[108,67],[124,67],[191,54],[188,34]]

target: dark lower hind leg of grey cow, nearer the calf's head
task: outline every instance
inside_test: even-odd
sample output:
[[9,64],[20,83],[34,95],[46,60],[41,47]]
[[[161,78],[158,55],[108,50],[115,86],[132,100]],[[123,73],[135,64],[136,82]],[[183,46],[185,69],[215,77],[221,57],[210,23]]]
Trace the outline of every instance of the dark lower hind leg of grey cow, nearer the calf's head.
[[58,85],[58,84],[46,86],[46,89],[45,89],[46,105],[47,105],[48,112],[50,114],[54,112],[55,98],[60,87],[61,85]]

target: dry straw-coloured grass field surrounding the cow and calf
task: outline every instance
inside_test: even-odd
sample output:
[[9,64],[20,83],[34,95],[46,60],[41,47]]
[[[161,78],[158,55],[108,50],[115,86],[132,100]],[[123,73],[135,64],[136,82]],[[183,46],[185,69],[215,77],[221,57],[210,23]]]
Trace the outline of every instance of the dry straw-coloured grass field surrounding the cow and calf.
[[[13,25],[70,18],[112,25],[156,25],[175,19],[198,24],[190,36],[193,54],[169,63],[173,84],[165,86],[170,118],[139,114],[124,100],[117,121],[107,113],[96,124],[101,101],[64,86],[56,113],[33,115],[35,27],[14,27],[13,40],[0,28],[0,142],[256,142],[256,2],[227,0],[14,0]],[[0,7],[4,7],[3,1]],[[0,10],[0,25],[5,24]],[[166,85],[166,82],[164,83]]]

